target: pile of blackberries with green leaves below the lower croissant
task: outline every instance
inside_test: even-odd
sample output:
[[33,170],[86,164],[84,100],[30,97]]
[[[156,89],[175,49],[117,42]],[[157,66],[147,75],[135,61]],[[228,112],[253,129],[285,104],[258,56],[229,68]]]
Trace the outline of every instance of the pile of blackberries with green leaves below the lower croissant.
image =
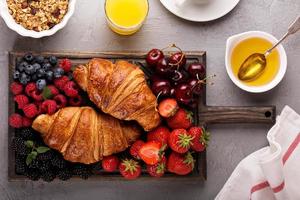
[[100,166],[99,163],[84,165],[64,160],[59,152],[46,147],[32,128],[17,129],[11,145],[16,155],[16,174],[34,181],[51,182],[56,177],[65,181],[73,176],[87,179],[92,175],[94,166]]

